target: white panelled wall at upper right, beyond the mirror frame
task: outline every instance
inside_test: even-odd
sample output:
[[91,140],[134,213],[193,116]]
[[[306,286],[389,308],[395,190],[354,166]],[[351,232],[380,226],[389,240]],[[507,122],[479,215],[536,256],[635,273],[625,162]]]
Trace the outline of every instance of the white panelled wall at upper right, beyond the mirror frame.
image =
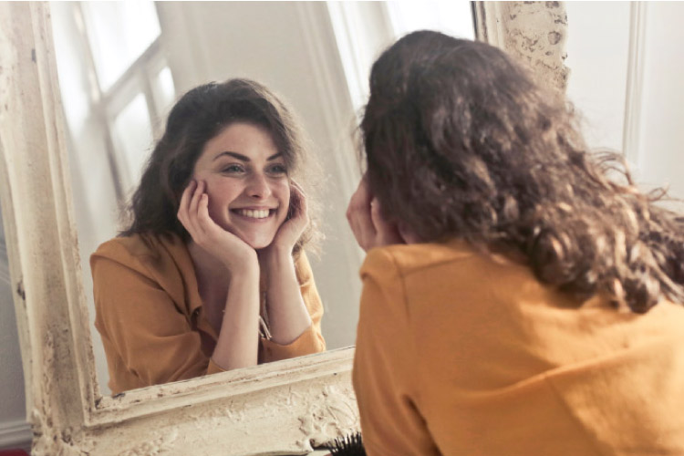
[[[668,186],[673,196],[684,197],[680,178],[684,170],[680,152],[684,144],[684,4],[642,4],[640,34],[633,20],[636,4],[566,2],[565,6],[569,24],[566,63],[571,68],[567,92],[584,114],[589,145],[629,151],[632,171],[645,189]],[[629,58],[642,63],[631,73]],[[626,106],[628,82],[634,82],[637,89]],[[630,115],[636,120],[627,122],[631,130],[626,131]]]

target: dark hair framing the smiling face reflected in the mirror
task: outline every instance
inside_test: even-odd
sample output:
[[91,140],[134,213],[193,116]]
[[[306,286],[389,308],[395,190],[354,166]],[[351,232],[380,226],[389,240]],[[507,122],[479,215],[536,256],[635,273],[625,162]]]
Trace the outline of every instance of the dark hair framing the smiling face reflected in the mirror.
[[175,233],[187,242],[190,234],[176,216],[181,194],[192,178],[204,145],[234,122],[252,123],[267,130],[283,153],[288,175],[306,193],[312,223],[295,244],[293,253],[298,254],[317,237],[318,206],[312,195],[312,178],[319,169],[310,156],[304,132],[294,113],[272,91],[249,79],[192,88],[173,106],[166,130],[152,150],[140,185],[126,209],[130,224],[119,236]]

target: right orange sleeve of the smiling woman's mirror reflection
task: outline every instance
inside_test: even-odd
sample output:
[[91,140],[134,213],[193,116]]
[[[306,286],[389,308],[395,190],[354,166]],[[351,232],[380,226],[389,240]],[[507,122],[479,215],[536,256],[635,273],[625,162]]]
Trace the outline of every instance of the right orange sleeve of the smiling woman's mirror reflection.
[[314,275],[311,272],[311,265],[304,252],[302,252],[295,261],[295,273],[306,310],[308,310],[309,316],[311,316],[311,326],[306,328],[299,337],[287,345],[280,345],[273,340],[262,338],[264,362],[302,357],[326,350],[326,340],[321,333],[323,304],[318,295],[318,290],[316,290],[316,283],[314,282]]

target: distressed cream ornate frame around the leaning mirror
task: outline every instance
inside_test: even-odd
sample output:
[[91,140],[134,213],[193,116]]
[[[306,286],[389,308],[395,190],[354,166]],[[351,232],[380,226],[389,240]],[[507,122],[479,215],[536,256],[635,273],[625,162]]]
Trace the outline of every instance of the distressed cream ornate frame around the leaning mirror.
[[[475,2],[478,37],[515,52],[499,39],[511,8],[519,29],[557,28],[557,7],[537,16],[557,3],[525,4]],[[51,33],[47,3],[0,3],[0,202],[32,454],[304,454],[358,430],[353,347],[101,396]]]

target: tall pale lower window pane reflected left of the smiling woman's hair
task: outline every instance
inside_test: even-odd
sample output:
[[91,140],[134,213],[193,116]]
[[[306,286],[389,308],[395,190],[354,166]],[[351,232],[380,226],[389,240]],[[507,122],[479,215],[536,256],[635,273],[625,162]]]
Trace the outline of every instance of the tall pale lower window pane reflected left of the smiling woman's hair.
[[142,168],[152,144],[150,111],[143,94],[138,94],[114,119],[114,140],[117,145],[119,169],[125,176],[122,187],[125,196],[140,182]]

